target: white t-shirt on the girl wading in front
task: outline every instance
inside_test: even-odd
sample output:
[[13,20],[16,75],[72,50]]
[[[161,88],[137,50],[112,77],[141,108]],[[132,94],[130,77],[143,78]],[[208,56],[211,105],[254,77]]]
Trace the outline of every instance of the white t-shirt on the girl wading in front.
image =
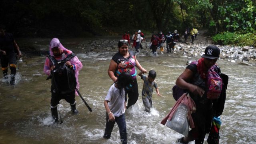
[[125,91],[122,89],[122,94],[120,95],[120,90],[116,88],[115,84],[112,84],[108,90],[108,94],[105,100],[108,100],[108,107],[114,116],[121,116],[124,114],[124,96]]

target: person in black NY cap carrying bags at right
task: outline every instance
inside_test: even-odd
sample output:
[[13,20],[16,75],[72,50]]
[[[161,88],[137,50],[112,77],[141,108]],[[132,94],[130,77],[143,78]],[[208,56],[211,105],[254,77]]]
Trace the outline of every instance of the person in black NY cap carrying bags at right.
[[[198,61],[192,62],[176,80],[176,85],[188,90],[192,100],[196,104],[196,111],[191,111],[194,126],[188,136],[179,138],[177,142],[188,144],[195,140],[195,144],[202,144],[206,133],[210,131],[213,116],[220,116],[222,111],[215,105],[219,104],[219,98],[209,98],[208,76],[214,70],[220,74],[220,68],[215,64],[220,56],[220,49],[217,46],[207,46],[204,55]],[[222,87],[223,89],[223,87]],[[220,95],[220,97],[223,97]],[[224,106],[224,103],[223,103]],[[190,125],[191,126],[191,125]],[[194,127],[194,128],[193,128]]]

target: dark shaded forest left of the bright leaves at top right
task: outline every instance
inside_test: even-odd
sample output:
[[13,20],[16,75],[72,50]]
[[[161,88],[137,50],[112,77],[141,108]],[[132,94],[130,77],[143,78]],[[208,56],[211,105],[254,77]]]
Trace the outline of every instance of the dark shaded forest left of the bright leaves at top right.
[[[1,0],[0,19],[16,36],[120,35],[202,27],[209,0]],[[197,15],[201,12],[200,15]],[[204,19],[204,18],[203,18]]]

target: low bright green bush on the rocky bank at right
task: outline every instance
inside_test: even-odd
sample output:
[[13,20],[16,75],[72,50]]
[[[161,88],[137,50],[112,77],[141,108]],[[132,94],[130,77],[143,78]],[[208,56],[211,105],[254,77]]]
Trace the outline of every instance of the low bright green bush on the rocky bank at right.
[[223,32],[212,37],[215,44],[236,45],[236,46],[256,46],[256,34],[240,32]]

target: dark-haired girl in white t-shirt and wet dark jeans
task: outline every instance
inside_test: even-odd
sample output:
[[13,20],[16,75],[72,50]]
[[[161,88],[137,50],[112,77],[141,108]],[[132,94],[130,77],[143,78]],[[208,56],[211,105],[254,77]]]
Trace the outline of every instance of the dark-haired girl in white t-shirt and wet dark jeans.
[[129,72],[122,72],[117,82],[110,86],[108,94],[104,100],[106,108],[106,128],[103,138],[110,138],[115,122],[118,124],[120,139],[122,144],[127,143],[125,109],[126,102],[124,100],[125,91],[131,87],[132,76]]

